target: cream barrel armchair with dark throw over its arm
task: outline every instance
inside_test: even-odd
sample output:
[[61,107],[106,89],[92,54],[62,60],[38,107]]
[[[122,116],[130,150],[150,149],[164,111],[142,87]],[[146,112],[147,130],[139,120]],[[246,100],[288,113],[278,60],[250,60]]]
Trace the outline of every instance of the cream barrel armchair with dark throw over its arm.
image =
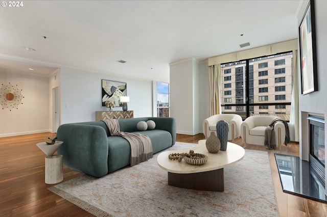
[[[241,124],[241,137],[245,144],[265,145],[265,130],[277,116],[251,116]],[[281,150],[285,141],[286,129],[282,122],[274,125],[276,146]]]

